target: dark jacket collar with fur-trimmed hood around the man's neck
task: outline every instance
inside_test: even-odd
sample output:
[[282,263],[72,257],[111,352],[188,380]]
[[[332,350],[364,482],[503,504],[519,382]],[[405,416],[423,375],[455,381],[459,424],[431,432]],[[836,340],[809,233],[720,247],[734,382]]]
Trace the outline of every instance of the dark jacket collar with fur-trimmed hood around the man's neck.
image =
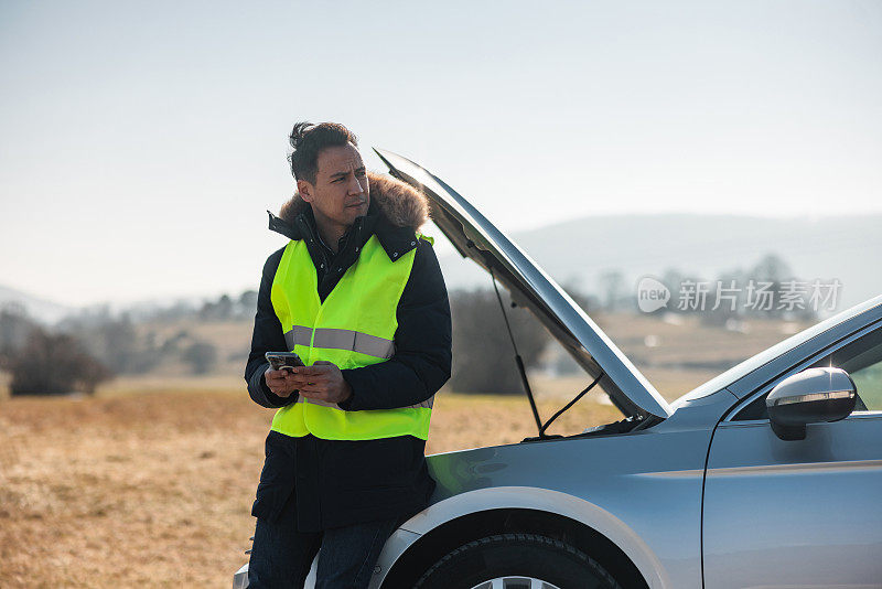
[[[370,206],[367,215],[355,219],[351,231],[356,232],[361,245],[376,235],[386,255],[395,261],[417,246],[416,232],[429,217],[426,196],[413,188],[368,172]],[[282,205],[279,216],[269,211],[269,228],[289,239],[318,238],[312,208],[298,193]]]

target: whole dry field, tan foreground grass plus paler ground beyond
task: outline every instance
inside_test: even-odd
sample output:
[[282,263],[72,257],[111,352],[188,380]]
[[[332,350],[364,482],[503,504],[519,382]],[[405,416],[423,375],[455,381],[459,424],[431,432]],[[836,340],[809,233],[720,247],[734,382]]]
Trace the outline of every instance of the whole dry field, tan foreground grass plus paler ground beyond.
[[[598,318],[668,399],[804,326],[754,322],[733,332],[693,320],[617,319]],[[239,376],[249,324],[185,326],[218,343],[214,375],[193,378],[183,365],[166,366],[83,398],[7,398],[0,390],[0,587],[229,586],[247,559],[272,411],[251,403]],[[548,418],[587,381],[535,374],[530,383]],[[551,432],[619,419],[603,400],[582,399]],[[535,432],[520,395],[443,392],[427,453]]]

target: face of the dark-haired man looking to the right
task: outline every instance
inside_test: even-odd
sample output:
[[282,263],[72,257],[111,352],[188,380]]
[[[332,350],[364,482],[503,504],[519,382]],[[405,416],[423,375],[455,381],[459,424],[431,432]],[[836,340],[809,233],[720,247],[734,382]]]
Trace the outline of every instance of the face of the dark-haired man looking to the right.
[[312,205],[320,225],[345,231],[370,204],[362,154],[352,143],[329,147],[319,152],[316,163],[315,184],[298,180],[300,196]]

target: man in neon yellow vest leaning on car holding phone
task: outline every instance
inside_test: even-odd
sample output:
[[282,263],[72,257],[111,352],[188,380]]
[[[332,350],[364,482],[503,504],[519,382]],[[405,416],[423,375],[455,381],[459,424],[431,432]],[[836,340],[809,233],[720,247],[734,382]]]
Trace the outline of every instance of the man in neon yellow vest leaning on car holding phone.
[[[368,174],[342,125],[298,124],[298,192],[270,228],[290,239],[263,266],[251,398],[279,408],[251,514],[251,587],[367,587],[388,536],[434,489],[426,438],[450,377],[450,307],[424,197]],[[266,352],[305,366],[273,371]]]

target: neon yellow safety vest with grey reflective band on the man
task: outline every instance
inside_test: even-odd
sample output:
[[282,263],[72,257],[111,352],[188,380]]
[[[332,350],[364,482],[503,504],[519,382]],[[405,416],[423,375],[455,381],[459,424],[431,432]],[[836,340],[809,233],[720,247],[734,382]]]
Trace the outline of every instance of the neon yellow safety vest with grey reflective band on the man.
[[[355,264],[343,274],[324,302],[318,274],[303,239],[284,248],[270,300],[282,324],[288,349],[306,366],[323,360],[341,370],[385,362],[395,353],[396,309],[413,267],[413,248],[391,260],[372,235]],[[394,436],[429,437],[430,398],[398,409],[345,411],[299,396],[272,418],[272,430],[286,436],[312,433],[326,440],[373,440]]]

